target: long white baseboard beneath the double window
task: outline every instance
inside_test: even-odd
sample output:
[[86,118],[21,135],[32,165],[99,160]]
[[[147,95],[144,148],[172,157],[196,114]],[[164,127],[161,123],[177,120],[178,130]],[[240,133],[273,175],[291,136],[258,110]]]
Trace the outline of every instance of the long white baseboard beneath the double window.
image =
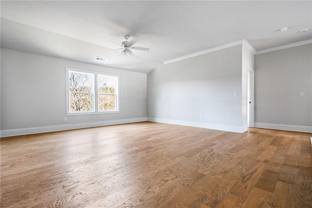
[[19,135],[26,135],[26,134],[36,134],[36,133],[62,131],[62,130],[70,130],[70,129],[78,129],[78,128],[89,128],[89,127],[97,127],[97,126],[104,126],[104,125],[128,124],[128,123],[143,122],[143,121],[147,121],[147,118],[143,117],[143,118],[100,121],[100,122],[90,122],[90,123],[81,123],[81,124],[50,125],[50,126],[41,126],[41,127],[33,127],[33,128],[9,129],[9,130],[1,130],[0,137],[19,136]]

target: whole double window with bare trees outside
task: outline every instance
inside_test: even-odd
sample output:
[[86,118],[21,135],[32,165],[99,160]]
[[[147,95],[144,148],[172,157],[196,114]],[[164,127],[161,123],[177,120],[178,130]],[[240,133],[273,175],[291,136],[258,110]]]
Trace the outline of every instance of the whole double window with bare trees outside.
[[118,76],[66,68],[67,115],[118,111]]

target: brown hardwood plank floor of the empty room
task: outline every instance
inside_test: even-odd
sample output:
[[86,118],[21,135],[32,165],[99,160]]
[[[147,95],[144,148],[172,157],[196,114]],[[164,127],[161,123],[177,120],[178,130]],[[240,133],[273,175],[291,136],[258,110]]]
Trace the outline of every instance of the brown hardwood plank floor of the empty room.
[[312,207],[312,134],[142,122],[1,138],[1,208]]

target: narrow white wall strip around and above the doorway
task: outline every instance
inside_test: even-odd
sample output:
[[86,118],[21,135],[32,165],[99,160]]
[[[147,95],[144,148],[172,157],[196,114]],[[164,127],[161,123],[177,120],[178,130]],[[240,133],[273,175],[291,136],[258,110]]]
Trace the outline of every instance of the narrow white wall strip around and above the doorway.
[[242,45],[242,128],[247,131],[247,67],[254,69],[254,54]]

